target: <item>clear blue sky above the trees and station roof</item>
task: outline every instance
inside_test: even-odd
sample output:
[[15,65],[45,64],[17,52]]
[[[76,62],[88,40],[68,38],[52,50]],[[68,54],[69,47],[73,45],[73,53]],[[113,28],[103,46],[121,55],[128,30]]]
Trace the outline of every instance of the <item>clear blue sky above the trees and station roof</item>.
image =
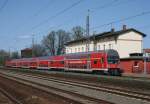
[[[90,9],[90,28],[150,11],[150,0],[0,0],[0,49],[19,51],[31,45],[32,34],[40,43],[51,30],[85,27],[87,10]],[[6,3],[6,5],[3,5]],[[2,7],[3,6],[3,7]],[[55,17],[53,17],[55,16]],[[150,48],[150,13],[126,21],[113,23],[115,30],[123,24],[147,35],[144,48]],[[43,22],[47,20],[46,22]],[[42,24],[41,24],[42,23]],[[90,29],[90,33],[109,31],[111,25]]]

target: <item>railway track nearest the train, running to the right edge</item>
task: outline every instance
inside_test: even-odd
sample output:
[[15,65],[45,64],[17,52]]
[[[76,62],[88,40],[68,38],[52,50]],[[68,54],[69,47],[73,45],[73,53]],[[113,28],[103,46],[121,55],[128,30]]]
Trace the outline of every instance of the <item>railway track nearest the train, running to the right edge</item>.
[[[13,72],[13,73],[16,74],[16,72]],[[100,90],[100,91],[105,91],[108,93],[114,93],[114,94],[132,97],[136,99],[150,101],[150,94],[145,94],[145,93],[140,93],[140,92],[135,92],[135,91],[130,91],[130,90],[117,89],[117,88],[106,87],[106,86],[100,86],[100,85],[93,85],[93,84],[86,83],[86,82],[77,82],[77,81],[72,81],[72,80],[67,80],[67,79],[60,79],[56,77],[45,77],[43,75],[33,75],[30,73],[28,74],[20,73],[20,74],[22,76],[40,78],[43,80],[48,80],[48,81],[53,81],[53,82],[58,82],[58,83],[65,83],[65,84],[69,84],[73,86],[80,86],[80,87],[85,87],[85,88],[89,88],[93,90]]]

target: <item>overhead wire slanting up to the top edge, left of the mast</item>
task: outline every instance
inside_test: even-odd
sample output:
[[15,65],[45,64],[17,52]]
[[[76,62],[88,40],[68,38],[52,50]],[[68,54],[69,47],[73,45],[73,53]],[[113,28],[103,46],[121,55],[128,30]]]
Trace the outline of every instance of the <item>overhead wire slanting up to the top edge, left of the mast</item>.
[[42,26],[43,24],[47,23],[48,21],[50,21],[50,20],[56,18],[57,16],[59,16],[59,15],[65,13],[65,12],[68,11],[68,10],[72,9],[72,8],[75,7],[76,5],[80,4],[82,1],[83,1],[83,0],[79,0],[79,1],[77,1],[77,2],[75,2],[75,3],[73,3],[73,4],[71,4],[69,7],[65,8],[65,9],[63,9],[63,10],[61,10],[61,11],[58,12],[58,13],[56,13],[55,15],[48,17],[47,19],[45,19],[44,21],[40,22],[40,23],[37,24],[36,26],[32,27],[32,30],[34,30],[34,29],[36,29],[36,28]]

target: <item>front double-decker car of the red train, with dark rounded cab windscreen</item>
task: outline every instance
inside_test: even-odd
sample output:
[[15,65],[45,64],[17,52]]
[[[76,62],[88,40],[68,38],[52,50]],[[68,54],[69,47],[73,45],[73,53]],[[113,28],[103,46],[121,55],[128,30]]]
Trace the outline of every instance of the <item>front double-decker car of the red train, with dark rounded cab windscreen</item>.
[[65,56],[65,70],[121,75],[118,52],[112,49],[68,54]]

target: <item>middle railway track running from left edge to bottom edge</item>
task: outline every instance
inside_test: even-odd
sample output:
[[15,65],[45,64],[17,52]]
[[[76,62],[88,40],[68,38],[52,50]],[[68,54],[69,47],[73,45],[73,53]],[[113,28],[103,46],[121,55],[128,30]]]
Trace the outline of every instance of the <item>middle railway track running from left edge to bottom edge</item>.
[[[89,96],[86,96],[86,95],[77,94],[75,92],[65,91],[65,90],[62,90],[62,89],[50,87],[50,86],[47,86],[47,85],[44,85],[44,84],[41,84],[41,83],[38,83],[38,82],[35,82],[35,81],[30,81],[30,80],[26,80],[24,78],[19,78],[18,77],[19,75],[23,76],[23,74],[20,74],[20,73],[19,73],[19,75],[14,74],[15,76],[11,76],[11,75],[8,75],[8,74],[6,75],[6,73],[1,73],[0,75],[2,77],[12,79],[12,80],[15,80],[17,82],[35,87],[36,89],[43,90],[43,91],[48,92],[48,93],[53,93],[54,95],[63,96],[67,99],[78,102],[78,104],[80,104],[80,103],[81,104],[112,104],[110,102],[100,100],[100,99],[97,99],[97,98],[92,98],[92,97],[89,97]],[[28,77],[31,78],[31,76],[28,76]],[[32,77],[31,79],[34,79],[34,77]],[[36,80],[38,80],[38,79],[36,79]]]

